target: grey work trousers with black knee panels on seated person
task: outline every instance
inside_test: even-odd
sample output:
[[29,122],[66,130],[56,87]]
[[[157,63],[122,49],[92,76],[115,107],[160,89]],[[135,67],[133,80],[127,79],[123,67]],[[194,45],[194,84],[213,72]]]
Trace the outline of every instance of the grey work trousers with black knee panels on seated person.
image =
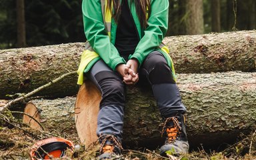
[[[103,60],[97,61],[87,73],[87,77],[101,91],[101,103],[97,117],[97,135],[111,134],[119,140],[123,132],[125,107],[125,84],[123,78],[111,70]],[[158,51],[150,53],[139,69],[139,83],[149,83],[157,106],[163,118],[174,113],[185,113],[179,89],[165,57]]]

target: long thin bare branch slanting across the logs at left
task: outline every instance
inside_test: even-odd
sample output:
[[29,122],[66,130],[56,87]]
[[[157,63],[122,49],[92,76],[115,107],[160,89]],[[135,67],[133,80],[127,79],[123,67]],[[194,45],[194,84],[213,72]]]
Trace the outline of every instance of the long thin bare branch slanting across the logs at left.
[[54,79],[53,81],[50,81],[49,83],[27,93],[26,95],[23,95],[21,97],[18,97],[17,99],[13,99],[12,101],[9,101],[5,106],[1,107],[0,108],[0,113],[3,113],[3,111],[5,111],[6,109],[8,109],[8,107],[10,107],[13,103],[17,103],[18,101],[21,101],[23,99],[26,99],[27,97],[30,97],[31,95],[41,91],[42,89],[45,89],[46,87],[49,87],[50,85],[52,85],[53,83],[56,83],[57,81],[60,81],[61,79],[63,79],[64,77],[67,77],[69,75],[73,75],[77,73],[77,71],[72,71],[72,72],[69,72],[69,73],[66,73],[64,75],[61,75],[60,77],[58,77],[57,79]]

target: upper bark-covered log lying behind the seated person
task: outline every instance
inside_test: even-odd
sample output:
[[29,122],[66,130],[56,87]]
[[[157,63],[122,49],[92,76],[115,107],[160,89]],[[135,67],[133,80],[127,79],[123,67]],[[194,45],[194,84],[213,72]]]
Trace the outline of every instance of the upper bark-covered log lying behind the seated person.
[[[256,31],[166,37],[177,73],[256,71]],[[0,98],[32,91],[76,71],[84,43],[69,43],[0,50]],[[77,76],[41,91],[39,95],[64,97],[78,91]]]

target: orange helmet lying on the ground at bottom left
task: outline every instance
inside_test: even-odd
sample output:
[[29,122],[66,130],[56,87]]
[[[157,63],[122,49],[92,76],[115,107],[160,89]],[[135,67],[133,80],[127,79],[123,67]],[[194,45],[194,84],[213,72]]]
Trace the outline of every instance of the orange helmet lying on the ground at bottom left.
[[63,157],[65,151],[71,149],[73,151],[74,145],[71,141],[59,137],[52,137],[37,141],[31,149],[31,159],[50,159]]

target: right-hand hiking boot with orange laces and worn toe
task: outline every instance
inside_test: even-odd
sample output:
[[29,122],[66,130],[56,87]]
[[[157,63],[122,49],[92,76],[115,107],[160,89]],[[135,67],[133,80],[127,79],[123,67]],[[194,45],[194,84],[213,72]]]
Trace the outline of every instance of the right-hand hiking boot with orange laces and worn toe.
[[179,156],[189,152],[189,143],[185,131],[184,115],[178,114],[175,117],[165,119],[162,124],[162,136],[166,135],[165,145],[160,148],[160,155],[167,157],[170,155]]

